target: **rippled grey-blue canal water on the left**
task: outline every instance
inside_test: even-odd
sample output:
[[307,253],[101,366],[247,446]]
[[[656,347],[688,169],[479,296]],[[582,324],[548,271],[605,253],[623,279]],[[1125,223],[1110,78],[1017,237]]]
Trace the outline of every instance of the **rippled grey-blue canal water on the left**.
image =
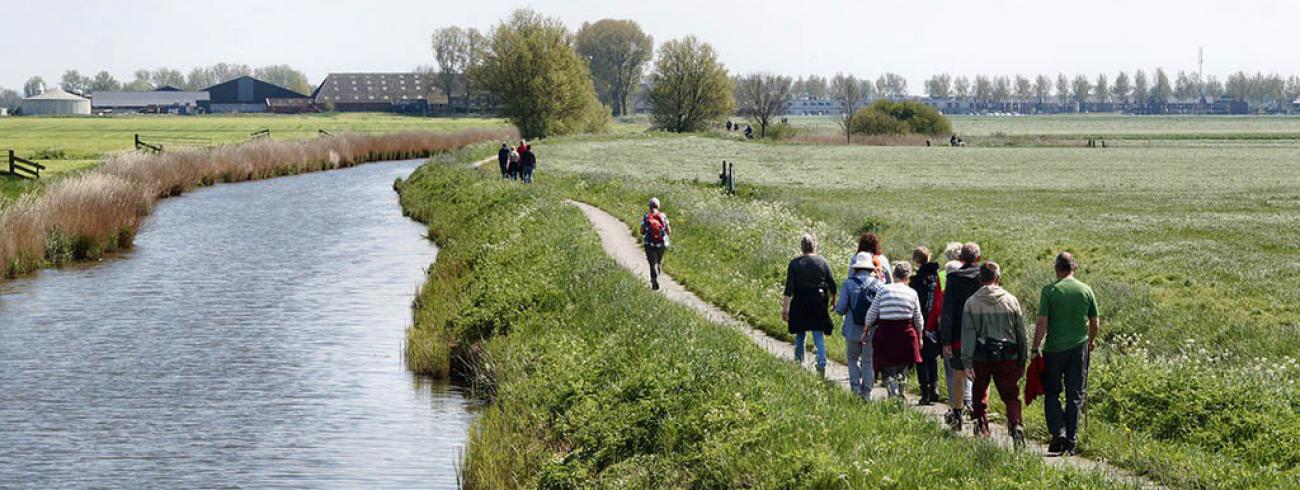
[[0,283],[0,487],[455,487],[468,400],[400,357],[419,164],[203,188]]

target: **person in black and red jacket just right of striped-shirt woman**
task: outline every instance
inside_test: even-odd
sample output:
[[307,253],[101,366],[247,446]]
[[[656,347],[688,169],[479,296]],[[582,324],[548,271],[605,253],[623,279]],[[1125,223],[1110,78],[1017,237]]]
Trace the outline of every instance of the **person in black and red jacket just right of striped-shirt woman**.
[[944,291],[939,287],[939,263],[930,261],[930,248],[918,246],[911,251],[911,261],[916,265],[916,276],[911,277],[907,286],[916,291],[920,311],[926,316],[916,382],[920,385],[920,404],[928,406],[940,400],[939,355],[944,348],[939,344],[939,317],[944,309]]

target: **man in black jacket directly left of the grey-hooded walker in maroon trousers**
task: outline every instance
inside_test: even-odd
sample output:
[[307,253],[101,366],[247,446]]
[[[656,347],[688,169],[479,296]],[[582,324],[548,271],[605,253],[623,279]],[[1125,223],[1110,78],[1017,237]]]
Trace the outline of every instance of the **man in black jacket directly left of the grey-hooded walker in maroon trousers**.
[[944,290],[944,312],[940,317],[940,344],[944,346],[944,368],[948,370],[948,403],[952,411],[945,417],[948,426],[953,430],[962,430],[962,411],[970,404],[970,378],[966,377],[966,367],[962,364],[962,311],[966,300],[979,291],[983,285],[979,279],[980,251],[978,243],[962,246],[962,266],[948,273],[948,289]]

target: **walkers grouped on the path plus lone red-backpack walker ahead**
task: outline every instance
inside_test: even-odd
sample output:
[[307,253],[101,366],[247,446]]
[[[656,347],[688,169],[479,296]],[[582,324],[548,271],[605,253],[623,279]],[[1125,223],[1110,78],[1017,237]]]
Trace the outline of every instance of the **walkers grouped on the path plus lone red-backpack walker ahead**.
[[[659,200],[651,199],[641,235],[654,289],[659,289],[671,233]],[[786,268],[781,302],[781,318],[794,335],[797,363],[803,363],[805,342],[811,335],[816,370],[826,376],[824,335],[833,330],[833,311],[844,316],[849,387],[862,399],[871,399],[879,373],[888,398],[904,400],[906,376],[915,367],[919,403],[942,402],[941,357],[949,403],[945,422],[952,430],[962,430],[968,415],[975,435],[989,435],[988,389],[993,385],[1006,406],[1011,438],[1023,446],[1019,382],[1027,378],[1026,403],[1044,396],[1052,434],[1048,452],[1076,451],[1100,313],[1092,289],[1074,277],[1078,264],[1070,252],[1057,255],[1056,281],[1041,289],[1031,338],[1019,300],[1001,286],[1002,268],[983,260],[976,243],[949,243],[942,266],[931,261],[924,246],[913,250],[911,264],[890,266],[880,238],[866,233],[849,259],[849,277],[844,281],[836,281],[829,264],[818,255],[814,235],[805,234],[800,248],[802,253]]]

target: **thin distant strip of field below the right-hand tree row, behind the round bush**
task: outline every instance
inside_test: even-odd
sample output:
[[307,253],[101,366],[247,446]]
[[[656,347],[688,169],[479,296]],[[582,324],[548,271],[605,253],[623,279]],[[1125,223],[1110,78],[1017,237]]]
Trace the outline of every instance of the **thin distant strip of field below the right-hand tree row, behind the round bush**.
[[[1300,139],[1296,116],[949,116],[962,136],[1060,136],[1105,139]],[[790,117],[792,126],[819,133],[838,131],[833,116]]]

